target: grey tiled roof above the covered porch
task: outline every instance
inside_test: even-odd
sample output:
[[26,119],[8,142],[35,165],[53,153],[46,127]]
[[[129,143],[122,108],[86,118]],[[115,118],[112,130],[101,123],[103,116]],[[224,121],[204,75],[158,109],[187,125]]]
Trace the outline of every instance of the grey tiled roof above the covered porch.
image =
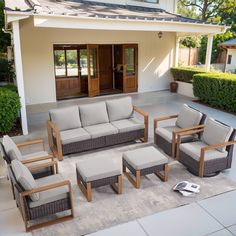
[[34,15],[65,15],[87,18],[133,19],[149,21],[203,22],[158,8],[91,2],[85,0],[5,0],[7,12],[29,12]]

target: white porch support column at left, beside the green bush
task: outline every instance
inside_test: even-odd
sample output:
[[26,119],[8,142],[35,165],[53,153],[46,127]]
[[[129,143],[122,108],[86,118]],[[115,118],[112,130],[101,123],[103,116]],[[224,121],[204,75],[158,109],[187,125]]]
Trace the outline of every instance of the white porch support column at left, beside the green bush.
[[21,126],[22,126],[23,134],[27,135],[28,123],[27,123],[26,104],[25,104],[25,88],[24,88],[22,57],[21,57],[19,21],[12,22],[12,32],[13,32],[16,81],[17,81],[18,93],[20,96],[20,102],[21,102]]

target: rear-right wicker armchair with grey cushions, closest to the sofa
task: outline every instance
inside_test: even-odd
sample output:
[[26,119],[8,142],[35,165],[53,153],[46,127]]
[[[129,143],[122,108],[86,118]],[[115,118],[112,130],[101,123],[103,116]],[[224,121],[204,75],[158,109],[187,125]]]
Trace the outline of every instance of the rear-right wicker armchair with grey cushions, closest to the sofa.
[[[174,125],[159,126],[160,122],[176,119]],[[202,112],[184,104],[177,115],[160,117],[154,119],[154,143],[161,148],[167,155],[175,158],[176,137],[178,133],[192,129],[202,128],[206,115]],[[185,136],[183,142],[190,142],[196,138],[196,135]]]

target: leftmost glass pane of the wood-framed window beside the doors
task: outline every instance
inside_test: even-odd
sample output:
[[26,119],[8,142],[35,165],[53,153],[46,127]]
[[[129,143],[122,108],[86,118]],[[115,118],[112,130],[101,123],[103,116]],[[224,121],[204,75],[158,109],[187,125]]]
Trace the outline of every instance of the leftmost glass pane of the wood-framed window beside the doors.
[[55,73],[56,77],[66,76],[65,51],[54,51]]

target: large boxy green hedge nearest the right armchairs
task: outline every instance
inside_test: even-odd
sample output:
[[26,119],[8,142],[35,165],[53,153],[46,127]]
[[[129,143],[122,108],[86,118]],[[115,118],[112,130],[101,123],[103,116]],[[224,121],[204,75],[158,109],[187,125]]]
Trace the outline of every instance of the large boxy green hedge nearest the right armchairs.
[[193,80],[193,92],[204,103],[229,112],[236,112],[235,74],[196,74]]

